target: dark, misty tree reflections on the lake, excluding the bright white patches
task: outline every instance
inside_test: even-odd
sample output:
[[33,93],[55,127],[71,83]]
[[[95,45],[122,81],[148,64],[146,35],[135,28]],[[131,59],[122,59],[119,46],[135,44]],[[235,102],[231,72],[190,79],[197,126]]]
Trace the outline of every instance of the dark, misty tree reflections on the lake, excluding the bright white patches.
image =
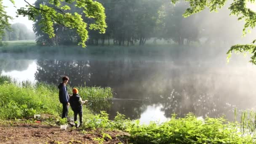
[[232,117],[234,105],[250,108],[244,98],[256,93],[246,80],[255,76],[241,68],[208,68],[202,64],[178,67],[168,61],[39,60],[37,64],[38,81],[58,83],[61,75],[68,75],[72,85],[108,86],[114,88],[116,98],[150,100],[112,101],[112,107],[105,109],[112,118],[117,111],[131,119],[140,118],[149,104],[161,104],[165,117],[174,112],[179,117],[189,112],[203,117]]

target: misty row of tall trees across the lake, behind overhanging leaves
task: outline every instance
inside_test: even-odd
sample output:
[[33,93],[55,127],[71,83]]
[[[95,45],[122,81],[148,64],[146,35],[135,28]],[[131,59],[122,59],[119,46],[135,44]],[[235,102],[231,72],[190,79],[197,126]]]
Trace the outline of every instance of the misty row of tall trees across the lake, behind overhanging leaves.
[[[144,45],[147,40],[154,38],[168,40],[179,45],[196,43],[234,43],[241,39],[243,23],[237,22],[237,17],[230,17],[227,9],[219,13],[203,11],[184,18],[182,14],[188,8],[186,3],[175,6],[171,0],[97,0],[104,5],[107,15],[107,31],[99,34],[90,30],[87,45]],[[35,5],[48,3],[48,0],[37,0]],[[48,3],[48,5],[51,5]],[[53,6],[53,5],[51,5]],[[74,5],[69,5],[69,13],[82,13]],[[93,19],[85,16],[83,19],[93,23]],[[38,16],[34,31],[39,37],[38,44],[68,45],[77,44],[80,37],[75,30],[55,24],[56,37],[49,38],[41,31],[41,16]]]

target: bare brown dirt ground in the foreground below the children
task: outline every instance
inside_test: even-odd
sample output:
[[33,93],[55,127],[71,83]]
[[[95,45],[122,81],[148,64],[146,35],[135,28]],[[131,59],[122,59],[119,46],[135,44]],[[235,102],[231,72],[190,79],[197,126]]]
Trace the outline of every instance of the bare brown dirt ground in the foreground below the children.
[[[93,138],[102,138],[103,130],[78,131],[41,124],[0,125],[0,144],[98,144]],[[112,139],[105,138],[104,144],[127,143],[128,133],[105,131]],[[124,137],[123,137],[124,136]]]

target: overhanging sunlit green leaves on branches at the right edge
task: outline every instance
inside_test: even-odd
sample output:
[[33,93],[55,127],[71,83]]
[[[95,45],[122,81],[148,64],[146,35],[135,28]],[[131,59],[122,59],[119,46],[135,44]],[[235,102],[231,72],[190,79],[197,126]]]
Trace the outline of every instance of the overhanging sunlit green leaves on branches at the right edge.
[[[173,4],[176,4],[179,0],[171,0]],[[184,17],[191,16],[192,14],[199,13],[203,11],[205,8],[209,8],[209,10],[217,11],[217,9],[222,8],[227,0],[185,0],[189,3],[189,8],[183,14]],[[244,20],[245,25],[243,29],[243,35],[249,31],[249,28],[253,29],[256,26],[256,12],[247,7],[248,3],[255,3],[255,0],[233,0],[229,6],[230,15],[235,15],[238,17],[238,20]],[[253,53],[251,57],[251,63],[256,64],[256,45],[254,43],[256,40],[253,40],[252,44],[248,45],[233,45],[227,54],[230,58],[233,51],[238,52],[250,52]]]

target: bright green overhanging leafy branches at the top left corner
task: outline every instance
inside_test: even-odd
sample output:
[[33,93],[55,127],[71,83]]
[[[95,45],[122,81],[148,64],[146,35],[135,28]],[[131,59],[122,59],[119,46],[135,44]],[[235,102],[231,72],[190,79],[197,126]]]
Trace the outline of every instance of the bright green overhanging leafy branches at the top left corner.
[[[14,1],[10,0],[13,4]],[[93,0],[48,0],[51,5],[45,3],[40,4],[39,7],[35,7],[24,0],[28,5],[25,8],[20,8],[17,11],[18,15],[29,16],[29,19],[35,20],[37,16],[41,16],[40,25],[42,31],[47,33],[50,38],[54,37],[54,24],[61,24],[70,29],[75,29],[77,34],[81,37],[79,45],[85,47],[85,42],[88,39],[88,30],[94,29],[99,30],[99,33],[105,33],[106,15],[105,9],[101,3]],[[67,4],[75,3],[77,8],[83,9],[83,13],[69,13],[71,9]],[[88,24],[83,21],[82,16],[85,15],[87,18],[93,19],[94,23]],[[0,35],[6,26],[9,26],[8,19],[10,16],[6,15],[2,0],[0,0]],[[2,22],[3,21],[3,22]],[[2,28],[3,27],[3,28]],[[1,29],[2,28],[2,29]]]

